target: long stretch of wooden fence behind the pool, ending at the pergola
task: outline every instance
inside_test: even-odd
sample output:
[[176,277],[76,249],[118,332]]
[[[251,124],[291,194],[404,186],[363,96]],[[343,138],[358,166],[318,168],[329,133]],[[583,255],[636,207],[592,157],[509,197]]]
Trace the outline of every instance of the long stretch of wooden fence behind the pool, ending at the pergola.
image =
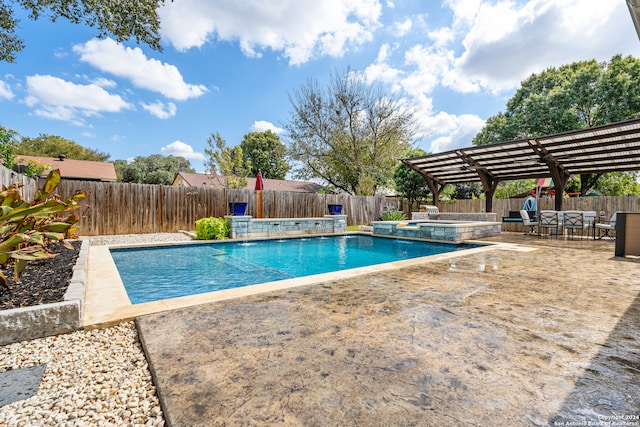
[[[247,215],[255,217],[258,211],[253,190],[71,180],[57,188],[62,197],[77,191],[87,192],[77,224],[83,236],[193,230],[200,218],[227,215],[230,202],[247,202]],[[382,196],[263,191],[262,217],[322,217],[328,204],[342,204],[349,225],[369,224],[383,207],[398,207],[395,198]]]

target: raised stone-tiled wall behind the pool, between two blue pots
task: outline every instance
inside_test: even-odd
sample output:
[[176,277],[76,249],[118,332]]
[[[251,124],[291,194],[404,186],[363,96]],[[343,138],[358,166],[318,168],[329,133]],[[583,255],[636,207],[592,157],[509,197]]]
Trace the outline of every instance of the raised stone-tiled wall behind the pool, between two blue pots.
[[232,239],[296,236],[304,234],[340,234],[347,230],[346,215],[318,218],[253,218],[225,216]]

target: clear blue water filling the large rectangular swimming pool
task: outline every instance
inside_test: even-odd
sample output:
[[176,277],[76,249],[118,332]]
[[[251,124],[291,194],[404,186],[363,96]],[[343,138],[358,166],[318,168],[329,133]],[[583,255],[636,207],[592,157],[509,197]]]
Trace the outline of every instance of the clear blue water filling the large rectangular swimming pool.
[[470,249],[366,235],[111,249],[133,304]]

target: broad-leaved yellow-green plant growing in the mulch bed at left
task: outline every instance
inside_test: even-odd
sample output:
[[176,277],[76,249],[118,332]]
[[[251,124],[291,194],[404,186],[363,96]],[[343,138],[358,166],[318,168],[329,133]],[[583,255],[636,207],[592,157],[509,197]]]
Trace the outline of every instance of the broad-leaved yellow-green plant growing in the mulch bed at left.
[[[80,219],[75,214],[61,216],[80,207],[86,193],[76,193],[62,200],[54,194],[60,182],[60,171],[52,170],[42,189],[33,201],[27,202],[20,196],[22,184],[2,186],[0,191],[0,265],[14,263],[14,280],[17,282],[27,262],[41,258],[51,258],[47,246],[52,241],[61,240],[69,249],[73,247],[64,239],[73,237],[75,223]],[[0,273],[0,286],[6,287],[6,277]]]

